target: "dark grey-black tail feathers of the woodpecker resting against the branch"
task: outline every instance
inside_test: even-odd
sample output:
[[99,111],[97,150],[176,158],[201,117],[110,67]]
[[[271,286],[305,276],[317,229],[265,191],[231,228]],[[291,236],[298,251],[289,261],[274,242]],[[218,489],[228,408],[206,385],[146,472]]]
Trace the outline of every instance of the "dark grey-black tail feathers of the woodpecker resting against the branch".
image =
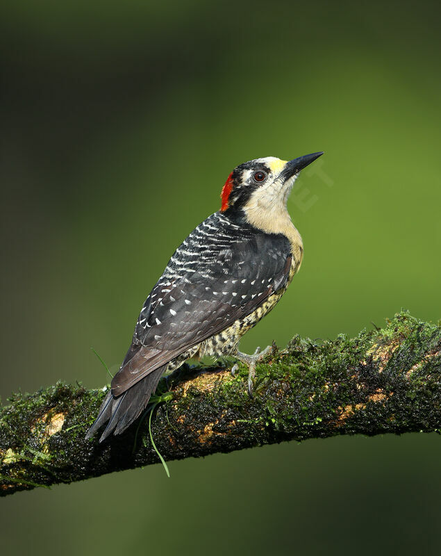
[[147,407],[150,396],[155,392],[164,370],[165,367],[153,370],[152,373],[149,373],[140,382],[133,384],[131,388],[117,398],[110,391],[104,398],[97,420],[88,430],[86,439],[90,439],[106,423],[107,427],[101,434],[100,442],[112,433],[121,434],[124,432]]

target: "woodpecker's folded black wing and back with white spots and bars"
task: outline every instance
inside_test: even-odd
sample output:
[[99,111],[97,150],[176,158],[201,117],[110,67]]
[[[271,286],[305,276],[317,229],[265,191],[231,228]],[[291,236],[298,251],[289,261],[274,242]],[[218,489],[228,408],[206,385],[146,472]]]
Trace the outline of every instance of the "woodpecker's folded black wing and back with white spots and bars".
[[281,236],[253,235],[231,245],[191,245],[170,260],[140,313],[112,393],[122,394],[190,347],[252,313],[288,280],[291,254]]

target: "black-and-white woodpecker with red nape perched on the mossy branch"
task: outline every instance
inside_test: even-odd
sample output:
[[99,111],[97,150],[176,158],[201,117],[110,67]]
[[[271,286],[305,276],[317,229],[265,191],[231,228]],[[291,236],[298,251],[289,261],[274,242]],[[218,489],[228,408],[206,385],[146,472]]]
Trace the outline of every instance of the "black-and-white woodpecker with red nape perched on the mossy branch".
[[300,170],[322,152],[282,161],[256,158],[236,167],[222,188],[220,211],[201,222],[172,255],[142,306],[133,340],[113,377],[90,438],[121,434],[147,407],[162,375],[190,357],[232,355],[249,367],[238,343],[280,300],[303,258],[288,213]]

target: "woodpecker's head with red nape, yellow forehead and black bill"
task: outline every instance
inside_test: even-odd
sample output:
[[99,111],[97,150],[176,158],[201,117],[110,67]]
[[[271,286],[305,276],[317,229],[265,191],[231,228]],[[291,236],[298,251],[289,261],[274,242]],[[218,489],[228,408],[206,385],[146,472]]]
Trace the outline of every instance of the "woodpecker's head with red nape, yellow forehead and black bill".
[[222,189],[221,211],[247,212],[256,207],[262,211],[272,211],[274,208],[285,207],[300,170],[322,154],[306,154],[292,161],[266,156],[235,167]]

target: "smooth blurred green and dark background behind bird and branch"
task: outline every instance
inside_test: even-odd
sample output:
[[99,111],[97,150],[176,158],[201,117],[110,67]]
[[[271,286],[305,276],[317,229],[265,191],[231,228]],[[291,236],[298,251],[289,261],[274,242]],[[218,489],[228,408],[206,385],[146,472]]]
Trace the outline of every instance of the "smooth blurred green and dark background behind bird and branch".
[[[3,402],[107,382],[235,165],[325,151],[305,259],[244,351],[440,311],[438,3],[3,3]],[[440,553],[439,436],[288,443],[6,498],[1,552]]]

